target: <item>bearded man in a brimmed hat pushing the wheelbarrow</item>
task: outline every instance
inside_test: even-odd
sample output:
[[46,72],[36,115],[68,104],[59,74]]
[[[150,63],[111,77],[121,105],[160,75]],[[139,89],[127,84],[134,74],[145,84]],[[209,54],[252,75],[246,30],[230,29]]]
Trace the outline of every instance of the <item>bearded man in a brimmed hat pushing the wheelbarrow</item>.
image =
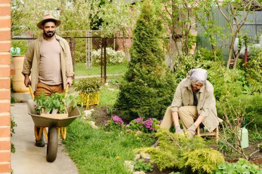
[[[74,72],[70,47],[65,39],[55,34],[60,24],[61,21],[51,14],[43,16],[43,20],[37,23],[43,35],[30,43],[26,52],[22,74],[26,87],[32,84],[34,96],[62,93],[66,84],[72,85]],[[36,145],[45,146],[43,136]]]

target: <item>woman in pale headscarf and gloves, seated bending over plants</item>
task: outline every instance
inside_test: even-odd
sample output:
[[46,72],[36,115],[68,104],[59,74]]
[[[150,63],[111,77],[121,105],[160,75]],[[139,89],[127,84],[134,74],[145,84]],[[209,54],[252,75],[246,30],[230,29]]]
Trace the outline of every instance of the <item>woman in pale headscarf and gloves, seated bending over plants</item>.
[[[188,132],[192,138],[196,127],[203,122],[208,131],[212,132],[219,125],[216,113],[214,88],[207,80],[208,72],[205,69],[191,69],[187,78],[179,83],[172,105],[165,111],[161,128],[170,129],[174,124],[176,133]],[[183,130],[179,125],[181,119]]]

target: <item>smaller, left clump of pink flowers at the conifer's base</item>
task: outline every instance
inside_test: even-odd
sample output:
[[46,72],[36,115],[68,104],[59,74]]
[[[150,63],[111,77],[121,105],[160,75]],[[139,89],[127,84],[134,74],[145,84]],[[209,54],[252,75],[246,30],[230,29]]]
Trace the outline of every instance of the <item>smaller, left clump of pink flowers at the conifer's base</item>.
[[114,131],[123,129],[123,120],[119,116],[112,116],[110,120],[105,120],[103,122],[105,131]]

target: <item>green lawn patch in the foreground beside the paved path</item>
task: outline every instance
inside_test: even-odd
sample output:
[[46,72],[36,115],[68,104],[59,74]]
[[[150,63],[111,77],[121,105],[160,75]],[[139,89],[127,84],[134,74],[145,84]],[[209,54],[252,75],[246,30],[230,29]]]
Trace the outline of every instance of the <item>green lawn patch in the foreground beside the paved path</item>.
[[80,119],[68,126],[64,141],[79,173],[88,174],[129,174],[123,163],[134,160],[132,149],[150,146],[153,142],[152,138],[137,138],[133,133],[92,129]]

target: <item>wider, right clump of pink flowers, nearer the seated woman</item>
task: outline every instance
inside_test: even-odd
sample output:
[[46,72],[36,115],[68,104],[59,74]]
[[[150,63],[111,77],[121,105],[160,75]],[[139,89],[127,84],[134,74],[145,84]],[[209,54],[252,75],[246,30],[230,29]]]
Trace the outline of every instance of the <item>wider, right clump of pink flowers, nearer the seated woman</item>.
[[144,120],[142,117],[132,120],[127,128],[134,131],[143,131],[144,133],[152,133],[159,129],[160,121],[156,118],[148,118]]

